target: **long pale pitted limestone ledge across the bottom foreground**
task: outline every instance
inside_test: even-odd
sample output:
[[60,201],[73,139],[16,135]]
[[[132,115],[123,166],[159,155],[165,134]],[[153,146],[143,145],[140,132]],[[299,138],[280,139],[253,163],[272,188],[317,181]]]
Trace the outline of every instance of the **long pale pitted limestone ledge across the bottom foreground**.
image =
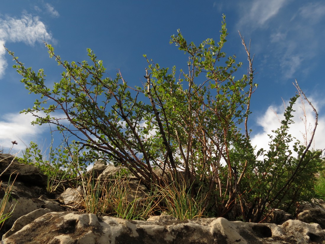
[[186,221],[128,221],[80,212],[51,212],[6,236],[22,243],[325,243],[318,224],[289,220],[282,225],[229,222],[225,218]]

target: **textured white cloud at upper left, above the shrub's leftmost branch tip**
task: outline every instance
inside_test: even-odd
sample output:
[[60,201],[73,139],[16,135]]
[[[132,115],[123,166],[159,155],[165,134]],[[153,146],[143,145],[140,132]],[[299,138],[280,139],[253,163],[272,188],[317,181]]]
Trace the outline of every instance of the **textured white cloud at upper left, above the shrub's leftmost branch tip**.
[[5,50],[2,47],[6,42],[24,42],[28,45],[34,45],[35,42],[51,40],[52,35],[46,30],[45,24],[39,20],[39,17],[32,17],[25,14],[21,19],[6,17],[0,18],[0,78],[5,74],[7,66],[5,59]]

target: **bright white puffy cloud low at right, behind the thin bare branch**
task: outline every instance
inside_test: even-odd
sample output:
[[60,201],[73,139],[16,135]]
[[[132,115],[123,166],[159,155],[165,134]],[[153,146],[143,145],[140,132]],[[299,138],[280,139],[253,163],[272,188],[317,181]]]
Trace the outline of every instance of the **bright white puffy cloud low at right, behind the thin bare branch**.
[[[315,99],[310,99],[316,110],[320,109],[320,104],[316,102]],[[280,120],[283,119],[283,112],[285,110],[284,105],[270,106],[266,112],[258,119],[257,124],[260,125],[263,130],[262,132],[256,134],[252,138],[252,145],[256,145],[256,150],[264,148],[267,150],[269,148],[268,143],[270,138],[267,134],[273,134],[272,130],[280,127]],[[305,113],[303,110],[303,105],[300,98],[298,98],[296,104],[293,106],[292,115],[294,115],[294,124],[290,125],[289,134],[292,137],[297,138],[302,144],[309,142],[311,138],[311,132],[315,125],[315,114],[312,108],[305,102]],[[306,116],[305,116],[306,115]],[[306,119],[306,120],[305,120]],[[316,129],[316,134],[314,141],[312,143],[312,148],[314,149],[324,149],[325,141],[323,140],[323,135],[325,133],[325,116],[318,117],[318,126]],[[305,137],[307,136],[307,137]],[[294,139],[295,142],[295,139]]]

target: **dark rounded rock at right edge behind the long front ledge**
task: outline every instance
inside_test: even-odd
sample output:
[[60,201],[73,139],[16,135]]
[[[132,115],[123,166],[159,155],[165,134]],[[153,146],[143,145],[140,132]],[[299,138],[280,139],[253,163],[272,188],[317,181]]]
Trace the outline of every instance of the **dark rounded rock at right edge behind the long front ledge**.
[[298,220],[305,223],[317,223],[325,229],[325,202],[323,200],[301,204],[296,212]]

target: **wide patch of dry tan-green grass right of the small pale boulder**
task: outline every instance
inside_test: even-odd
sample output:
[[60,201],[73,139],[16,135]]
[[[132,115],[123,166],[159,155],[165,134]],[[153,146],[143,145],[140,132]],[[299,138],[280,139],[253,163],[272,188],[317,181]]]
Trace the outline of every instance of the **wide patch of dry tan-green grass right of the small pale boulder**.
[[82,187],[81,201],[72,204],[73,209],[78,211],[97,216],[145,220],[160,209],[161,197],[157,191],[146,194],[140,189],[140,183],[136,190],[131,190],[130,179],[125,176],[105,180],[82,176]]

